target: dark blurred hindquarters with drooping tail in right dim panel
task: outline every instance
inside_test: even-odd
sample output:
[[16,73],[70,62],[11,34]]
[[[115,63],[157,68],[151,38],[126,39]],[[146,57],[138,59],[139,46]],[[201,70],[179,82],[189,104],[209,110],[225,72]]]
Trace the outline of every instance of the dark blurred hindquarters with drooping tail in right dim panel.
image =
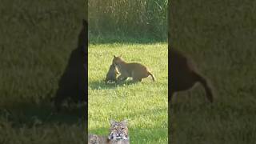
[[[169,37],[169,34],[168,34]],[[189,90],[196,82],[200,82],[206,91],[206,97],[210,102],[214,102],[213,89],[206,78],[199,74],[198,70],[192,60],[179,52],[174,50],[168,44],[170,54],[170,97],[169,102],[174,93],[183,90]]]

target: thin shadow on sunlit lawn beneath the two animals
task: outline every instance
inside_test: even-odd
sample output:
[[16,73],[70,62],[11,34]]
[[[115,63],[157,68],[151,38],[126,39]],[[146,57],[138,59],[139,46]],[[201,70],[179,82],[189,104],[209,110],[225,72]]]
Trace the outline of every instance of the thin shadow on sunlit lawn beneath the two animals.
[[88,86],[92,90],[106,90],[106,89],[115,89],[118,86],[129,86],[129,85],[134,85],[137,84],[138,82],[132,82],[131,80],[126,80],[125,82],[110,82],[110,83],[105,83],[104,81],[93,81],[89,82]]

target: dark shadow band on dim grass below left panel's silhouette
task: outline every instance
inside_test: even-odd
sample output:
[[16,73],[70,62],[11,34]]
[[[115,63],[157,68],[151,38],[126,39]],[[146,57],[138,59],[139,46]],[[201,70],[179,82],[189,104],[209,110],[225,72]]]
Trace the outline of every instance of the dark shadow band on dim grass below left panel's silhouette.
[[[47,104],[18,104],[0,110],[0,118],[11,122],[14,127],[43,126],[46,124],[86,124],[85,106],[74,106],[69,109],[54,111],[54,106]],[[2,121],[2,120],[1,120]]]

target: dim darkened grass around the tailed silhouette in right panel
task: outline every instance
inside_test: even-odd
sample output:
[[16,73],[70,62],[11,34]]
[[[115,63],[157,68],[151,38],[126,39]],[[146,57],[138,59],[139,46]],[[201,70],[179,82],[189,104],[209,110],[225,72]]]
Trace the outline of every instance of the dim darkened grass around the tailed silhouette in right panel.
[[217,94],[213,104],[205,101],[202,86],[177,95],[170,115],[171,142],[255,143],[254,2],[171,2],[172,46],[194,58]]

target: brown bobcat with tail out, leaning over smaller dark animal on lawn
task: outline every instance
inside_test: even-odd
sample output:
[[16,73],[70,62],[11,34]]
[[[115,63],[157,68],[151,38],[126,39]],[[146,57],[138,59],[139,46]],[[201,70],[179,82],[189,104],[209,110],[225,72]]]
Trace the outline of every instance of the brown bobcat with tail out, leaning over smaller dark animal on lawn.
[[112,63],[116,66],[118,73],[118,82],[126,80],[128,77],[132,77],[134,82],[142,82],[142,78],[147,78],[149,75],[155,81],[154,75],[146,66],[136,62],[125,62],[121,56],[116,57],[114,55]]

